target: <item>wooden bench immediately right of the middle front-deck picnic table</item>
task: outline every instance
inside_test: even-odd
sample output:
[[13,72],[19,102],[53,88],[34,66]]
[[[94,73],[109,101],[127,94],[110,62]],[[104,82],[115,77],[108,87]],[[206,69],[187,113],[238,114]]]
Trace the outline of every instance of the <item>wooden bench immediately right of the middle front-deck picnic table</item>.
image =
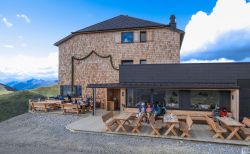
[[180,131],[182,131],[181,137],[191,137],[189,134],[191,127],[193,125],[193,120],[189,115],[186,116],[186,121],[180,121]]

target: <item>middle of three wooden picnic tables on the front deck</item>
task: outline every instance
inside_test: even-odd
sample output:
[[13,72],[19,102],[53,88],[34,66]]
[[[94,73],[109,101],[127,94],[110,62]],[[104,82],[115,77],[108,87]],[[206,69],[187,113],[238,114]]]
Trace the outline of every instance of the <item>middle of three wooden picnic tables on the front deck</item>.
[[177,136],[175,130],[175,126],[179,123],[177,116],[171,114],[164,115],[163,122],[166,124],[165,127],[167,128],[164,135],[168,135],[171,132],[174,136]]

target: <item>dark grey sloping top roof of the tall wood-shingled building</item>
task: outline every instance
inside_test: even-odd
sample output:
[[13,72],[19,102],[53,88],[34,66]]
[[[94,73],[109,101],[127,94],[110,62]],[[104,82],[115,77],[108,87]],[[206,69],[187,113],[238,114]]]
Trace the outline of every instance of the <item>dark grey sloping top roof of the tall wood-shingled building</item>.
[[93,33],[93,32],[103,32],[103,31],[112,31],[112,30],[126,30],[126,29],[139,29],[139,28],[157,28],[165,27],[173,31],[179,32],[181,34],[184,31],[177,28],[172,28],[169,25],[161,24],[153,21],[143,20],[135,17],[130,17],[127,15],[119,15],[114,18],[105,20],[103,22],[94,24],[92,26],[80,29],[78,31],[72,32],[72,34],[66,36],[65,38],[59,40],[54,45],[58,46],[64,41],[72,38],[74,35],[79,33]]

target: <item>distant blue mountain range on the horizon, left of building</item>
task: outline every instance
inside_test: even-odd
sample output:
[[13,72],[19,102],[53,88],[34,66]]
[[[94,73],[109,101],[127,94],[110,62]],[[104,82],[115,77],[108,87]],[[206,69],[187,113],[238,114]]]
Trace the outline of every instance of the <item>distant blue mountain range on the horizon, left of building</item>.
[[58,83],[58,80],[42,80],[42,79],[30,79],[26,81],[11,81],[5,83],[5,85],[12,87],[16,90],[30,90],[36,89],[39,87],[46,87],[55,85]]

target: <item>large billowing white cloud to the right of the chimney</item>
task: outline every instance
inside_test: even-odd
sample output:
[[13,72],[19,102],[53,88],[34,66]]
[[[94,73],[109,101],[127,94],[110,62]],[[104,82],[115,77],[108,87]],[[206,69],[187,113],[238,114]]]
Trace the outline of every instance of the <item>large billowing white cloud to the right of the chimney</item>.
[[[186,34],[181,54],[185,56],[220,48],[218,39],[231,32],[237,36],[235,33],[237,31],[241,34],[243,31],[246,34],[242,36],[244,40],[250,40],[248,35],[250,34],[250,3],[246,0],[218,0],[211,14],[199,11],[192,16],[185,28]],[[241,43],[240,40],[236,41]],[[226,46],[231,46],[230,43]]]

